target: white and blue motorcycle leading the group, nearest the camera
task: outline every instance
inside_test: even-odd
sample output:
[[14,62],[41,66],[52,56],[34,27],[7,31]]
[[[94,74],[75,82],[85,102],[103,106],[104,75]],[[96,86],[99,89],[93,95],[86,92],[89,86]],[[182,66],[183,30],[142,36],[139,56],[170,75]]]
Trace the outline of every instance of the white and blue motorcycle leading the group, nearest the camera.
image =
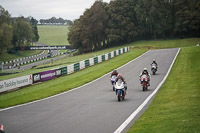
[[124,84],[124,82],[122,80],[118,80],[115,83],[115,92],[117,95],[117,99],[120,102],[121,100],[123,100],[125,98],[126,95],[126,91],[125,91],[125,87],[126,85]]

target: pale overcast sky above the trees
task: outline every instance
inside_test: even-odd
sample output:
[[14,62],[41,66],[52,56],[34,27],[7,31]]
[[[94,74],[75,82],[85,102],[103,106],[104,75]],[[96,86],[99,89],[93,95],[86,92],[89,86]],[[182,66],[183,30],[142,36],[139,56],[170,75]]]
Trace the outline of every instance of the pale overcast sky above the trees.
[[[103,1],[110,2],[110,0]],[[94,2],[95,0],[0,0],[0,5],[12,17],[32,16],[37,20],[61,17],[74,20],[78,19]]]

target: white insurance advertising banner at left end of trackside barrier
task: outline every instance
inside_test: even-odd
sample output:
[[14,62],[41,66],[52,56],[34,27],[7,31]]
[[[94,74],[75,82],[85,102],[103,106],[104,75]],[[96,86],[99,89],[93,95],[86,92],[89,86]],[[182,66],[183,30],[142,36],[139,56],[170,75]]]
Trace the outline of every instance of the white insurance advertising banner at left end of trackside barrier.
[[0,81],[0,92],[30,85],[33,83],[32,75],[26,75],[8,80]]

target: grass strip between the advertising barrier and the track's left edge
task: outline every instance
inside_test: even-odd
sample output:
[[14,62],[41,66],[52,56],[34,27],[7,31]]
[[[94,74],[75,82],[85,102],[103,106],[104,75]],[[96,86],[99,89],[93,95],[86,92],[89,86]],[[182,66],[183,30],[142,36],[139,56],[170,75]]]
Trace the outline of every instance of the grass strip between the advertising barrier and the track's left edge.
[[147,49],[130,49],[130,51],[125,54],[71,75],[2,94],[0,95],[0,108],[42,99],[81,86],[129,62],[145,51],[147,51]]

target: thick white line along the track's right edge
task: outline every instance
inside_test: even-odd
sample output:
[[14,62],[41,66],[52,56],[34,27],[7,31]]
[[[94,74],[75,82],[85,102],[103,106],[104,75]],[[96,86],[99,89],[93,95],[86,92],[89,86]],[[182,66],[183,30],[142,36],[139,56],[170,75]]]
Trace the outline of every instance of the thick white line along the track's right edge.
[[135,118],[135,116],[144,108],[144,106],[149,102],[149,100],[157,93],[157,91],[160,89],[160,87],[163,85],[163,83],[165,82],[165,80],[167,79],[171,69],[172,69],[172,66],[176,60],[176,57],[178,56],[179,54],[179,51],[180,51],[180,48],[178,49],[177,53],[176,53],[176,56],[174,57],[173,61],[172,61],[172,64],[170,65],[165,77],[163,78],[163,80],[160,82],[160,84],[157,86],[157,88],[152,92],[151,95],[149,95],[145,101],[124,121],[124,123],[122,123],[120,125],[120,127],[114,132],[114,133],[121,133],[125,128],[126,126]]

